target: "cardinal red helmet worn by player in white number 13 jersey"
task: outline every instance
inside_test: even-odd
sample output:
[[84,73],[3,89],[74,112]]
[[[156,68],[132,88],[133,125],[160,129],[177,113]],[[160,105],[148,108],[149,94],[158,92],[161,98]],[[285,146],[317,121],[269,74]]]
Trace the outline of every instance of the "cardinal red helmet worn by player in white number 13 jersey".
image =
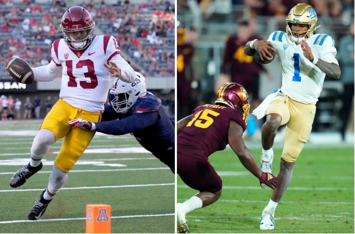
[[93,39],[95,22],[81,6],[70,7],[63,15],[60,29],[65,43],[73,50],[87,48]]

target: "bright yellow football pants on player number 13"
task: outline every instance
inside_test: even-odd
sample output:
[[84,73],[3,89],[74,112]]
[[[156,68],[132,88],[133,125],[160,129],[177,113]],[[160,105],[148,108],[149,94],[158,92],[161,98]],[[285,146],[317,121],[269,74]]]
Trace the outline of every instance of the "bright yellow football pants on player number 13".
[[54,161],[55,166],[64,172],[69,172],[74,166],[95,134],[95,131],[84,130],[68,124],[68,121],[77,118],[100,122],[101,112],[81,110],[69,105],[63,99],[59,99],[44,118],[40,127],[40,129],[46,128],[53,132],[56,141],[64,137],[59,154]]

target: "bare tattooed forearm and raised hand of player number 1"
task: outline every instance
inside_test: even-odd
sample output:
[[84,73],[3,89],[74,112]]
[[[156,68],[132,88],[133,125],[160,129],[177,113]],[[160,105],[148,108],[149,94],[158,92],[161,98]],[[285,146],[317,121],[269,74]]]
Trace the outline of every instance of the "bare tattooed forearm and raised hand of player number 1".
[[319,69],[321,69],[322,72],[326,73],[327,76],[332,77],[336,80],[340,78],[340,75],[342,74],[342,72],[340,71],[340,67],[338,64],[333,63],[333,62],[332,63],[326,62],[326,61],[323,61],[321,59],[314,57],[310,46],[307,44],[307,42],[305,40],[302,40],[300,42],[300,44],[301,44],[301,48],[303,50],[303,55],[309,61],[311,61],[313,64],[315,63],[315,65]]

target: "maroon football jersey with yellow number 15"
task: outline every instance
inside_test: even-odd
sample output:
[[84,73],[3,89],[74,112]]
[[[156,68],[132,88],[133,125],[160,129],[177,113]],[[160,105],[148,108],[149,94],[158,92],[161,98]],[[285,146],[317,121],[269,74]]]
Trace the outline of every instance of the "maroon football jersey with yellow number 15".
[[231,120],[246,128],[242,111],[220,105],[202,105],[193,110],[191,121],[178,135],[178,152],[187,156],[204,158],[228,144]]

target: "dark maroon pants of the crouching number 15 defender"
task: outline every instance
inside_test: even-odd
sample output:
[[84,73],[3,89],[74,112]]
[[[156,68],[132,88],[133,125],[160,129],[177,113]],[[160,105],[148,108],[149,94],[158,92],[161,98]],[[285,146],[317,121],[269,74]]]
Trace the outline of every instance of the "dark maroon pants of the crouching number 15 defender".
[[208,162],[208,158],[194,158],[178,152],[177,161],[178,174],[190,188],[211,193],[222,189],[222,179]]

